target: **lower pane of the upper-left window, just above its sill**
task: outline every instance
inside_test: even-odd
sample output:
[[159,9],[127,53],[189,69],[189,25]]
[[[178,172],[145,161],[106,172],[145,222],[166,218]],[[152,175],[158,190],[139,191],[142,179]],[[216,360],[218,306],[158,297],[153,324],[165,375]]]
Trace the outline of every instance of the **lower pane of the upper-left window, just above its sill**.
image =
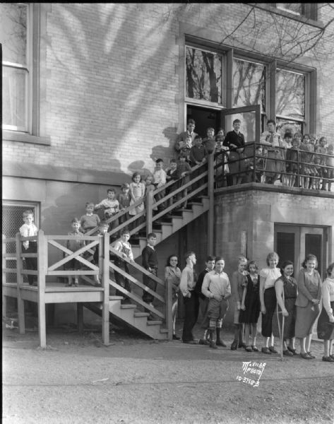
[[25,131],[25,81],[28,71],[3,66],[2,113],[4,126]]

